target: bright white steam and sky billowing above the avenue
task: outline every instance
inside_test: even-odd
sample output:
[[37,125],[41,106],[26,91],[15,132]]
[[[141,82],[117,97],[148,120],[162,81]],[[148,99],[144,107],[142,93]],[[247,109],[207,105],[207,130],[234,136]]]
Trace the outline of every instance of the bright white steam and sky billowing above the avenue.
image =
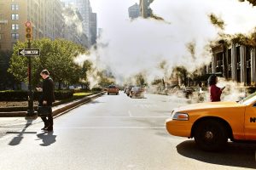
[[[154,0],[150,7],[164,20],[130,20],[128,8],[138,2],[91,0],[103,33],[97,49],[91,49],[90,56],[80,55],[77,62],[91,59],[99,68],[110,68],[119,82],[139,72],[150,82],[170,75],[176,65],[193,72],[209,64],[209,45],[220,38],[219,34],[247,34],[256,25],[256,8],[238,0]],[[209,14],[224,20],[224,30],[212,25]],[[191,45],[194,54],[189,51]],[[162,61],[166,65],[160,69]]]

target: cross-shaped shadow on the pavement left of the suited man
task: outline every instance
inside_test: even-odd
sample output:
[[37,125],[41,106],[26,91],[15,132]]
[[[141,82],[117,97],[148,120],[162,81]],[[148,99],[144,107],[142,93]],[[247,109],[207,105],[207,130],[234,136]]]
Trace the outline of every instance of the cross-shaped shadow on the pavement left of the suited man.
[[15,134],[18,134],[14,139],[12,139],[10,142],[9,142],[9,145],[18,145],[20,144],[21,140],[23,139],[23,134],[25,133],[37,133],[37,132],[25,132],[26,131],[26,128],[29,127],[30,125],[32,125],[32,120],[26,120],[26,125],[25,127],[23,127],[23,129],[21,130],[21,132],[7,132],[7,133],[15,133]]

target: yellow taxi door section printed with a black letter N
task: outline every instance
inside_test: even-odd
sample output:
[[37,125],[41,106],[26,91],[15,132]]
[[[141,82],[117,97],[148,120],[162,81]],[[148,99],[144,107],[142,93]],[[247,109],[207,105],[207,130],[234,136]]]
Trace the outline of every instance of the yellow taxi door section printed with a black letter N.
[[256,102],[247,105],[245,111],[245,139],[256,140]]

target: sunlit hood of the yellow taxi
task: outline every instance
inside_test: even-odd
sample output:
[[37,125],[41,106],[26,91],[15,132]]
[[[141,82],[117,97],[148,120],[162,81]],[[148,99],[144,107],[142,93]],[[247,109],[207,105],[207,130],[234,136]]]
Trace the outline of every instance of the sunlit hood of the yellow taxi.
[[235,101],[226,102],[207,102],[199,104],[184,105],[174,109],[174,111],[195,111],[195,110],[207,110],[207,109],[218,109],[218,108],[230,108],[230,107],[241,107],[243,105],[236,103]]

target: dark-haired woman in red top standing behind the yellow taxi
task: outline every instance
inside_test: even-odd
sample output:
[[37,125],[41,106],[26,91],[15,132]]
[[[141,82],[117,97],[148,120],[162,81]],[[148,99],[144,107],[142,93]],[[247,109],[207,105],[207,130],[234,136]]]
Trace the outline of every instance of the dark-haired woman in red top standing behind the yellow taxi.
[[215,75],[211,75],[208,78],[210,100],[212,102],[220,101],[220,95],[222,94],[222,91],[225,88],[225,87],[224,88],[218,88],[216,86],[217,82],[218,82],[218,77],[216,77]]

